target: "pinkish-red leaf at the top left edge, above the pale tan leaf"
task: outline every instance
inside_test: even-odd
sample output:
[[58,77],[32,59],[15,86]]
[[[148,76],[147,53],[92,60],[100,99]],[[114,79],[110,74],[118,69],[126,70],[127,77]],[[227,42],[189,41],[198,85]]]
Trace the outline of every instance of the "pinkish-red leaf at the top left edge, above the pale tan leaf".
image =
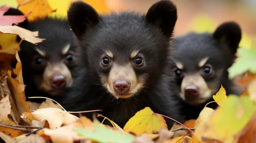
[[30,13],[26,15],[4,15],[10,8],[9,6],[0,7],[0,26],[12,26],[13,23],[17,25],[30,15]]

